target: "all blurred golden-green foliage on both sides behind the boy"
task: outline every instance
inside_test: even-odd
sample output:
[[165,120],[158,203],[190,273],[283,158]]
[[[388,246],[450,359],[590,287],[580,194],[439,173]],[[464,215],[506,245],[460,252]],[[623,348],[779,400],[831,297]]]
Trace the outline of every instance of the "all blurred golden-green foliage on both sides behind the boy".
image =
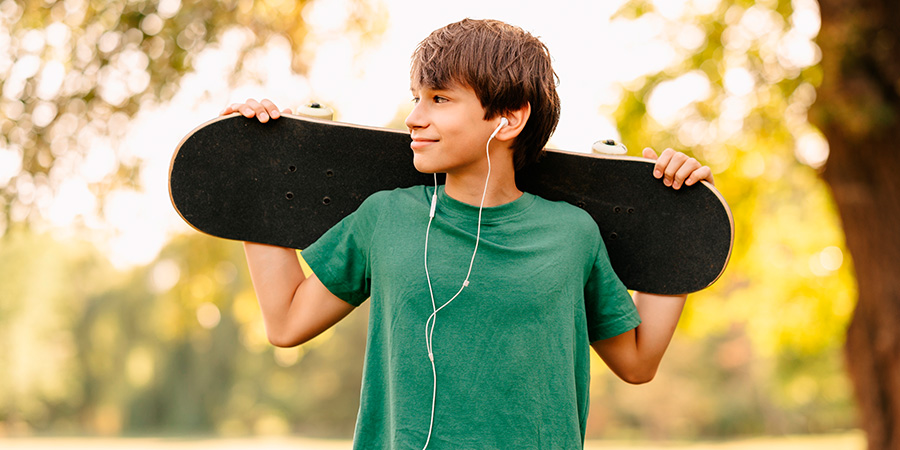
[[[594,360],[588,437],[852,427],[839,348],[855,287],[806,122],[820,72],[790,52],[811,38],[809,18],[795,14],[809,2],[674,3],[620,12],[650,23],[674,57],[623,82],[610,113],[624,142],[709,164],[737,240],[722,279],[690,297],[656,380],[628,386]],[[276,349],[238,244],[182,236],[154,263],[117,271],[77,232],[35,226],[64,180],[80,178],[101,210],[105,192],[135,183],[134,158],[117,154],[88,178],[79,167],[100,144],[116,148],[129,117],[170,98],[228,30],[253,37],[241,58],[287,37],[305,70],[305,5],[0,2],[0,435],[352,433],[365,307],[302,347]],[[377,14],[353,11],[360,39],[378,32]],[[654,97],[685,82],[705,95],[660,110]]]

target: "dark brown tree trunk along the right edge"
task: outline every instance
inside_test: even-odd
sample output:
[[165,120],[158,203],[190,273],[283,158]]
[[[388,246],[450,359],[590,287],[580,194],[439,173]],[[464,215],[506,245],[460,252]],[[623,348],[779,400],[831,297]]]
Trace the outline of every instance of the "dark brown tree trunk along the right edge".
[[870,450],[900,449],[900,46],[897,0],[820,0],[823,81],[810,119],[853,257],[845,347]]

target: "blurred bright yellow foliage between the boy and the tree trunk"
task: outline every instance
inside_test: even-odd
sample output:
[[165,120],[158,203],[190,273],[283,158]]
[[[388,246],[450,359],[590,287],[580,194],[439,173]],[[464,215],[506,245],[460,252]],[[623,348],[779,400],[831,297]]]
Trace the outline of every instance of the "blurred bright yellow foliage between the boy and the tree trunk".
[[[673,147],[710,165],[734,215],[734,250],[723,277],[688,299],[653,383],[623,386],[597,374],[594,393],[603,394],[600,406],[592,403],[592,421],[607,424],[603,436],[852,428],[841,348],[856,286],[818,176],[827,144],[806,120],[821,79],[811,41],[817,5],[682,5],[633,1],[619,12],[618,20],[655,24],[676,57],[623,83],[614,115],[624,142]],[[692,32],[702,43],[684,38]],[[654,114],[654,96],[676,95],[673,89],[690,83],[701,95]]]

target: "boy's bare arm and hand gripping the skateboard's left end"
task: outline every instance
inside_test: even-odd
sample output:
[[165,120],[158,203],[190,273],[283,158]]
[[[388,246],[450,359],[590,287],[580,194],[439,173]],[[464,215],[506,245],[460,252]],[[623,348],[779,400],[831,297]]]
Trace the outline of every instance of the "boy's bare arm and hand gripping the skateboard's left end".
[[[229,105],[222,115],[234,112],[260,122],[278,119],[291,110],[279,111],[269,100]],[[315,276],[306,277],[297,252],[291,248],[244,243],[250,279],[262,310],[269,342],[279,347],[302,344],[327,330],[354,307],[328,291]]]

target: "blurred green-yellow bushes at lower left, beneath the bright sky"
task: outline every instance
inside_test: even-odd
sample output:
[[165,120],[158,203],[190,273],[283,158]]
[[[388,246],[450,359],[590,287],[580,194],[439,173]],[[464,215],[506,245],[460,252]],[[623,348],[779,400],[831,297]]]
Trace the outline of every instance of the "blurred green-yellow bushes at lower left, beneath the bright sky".
[[352,433],[366,308],[275,348],[234,242],[178,238],[126,274],[78,241],[0,244],[0,435]]

